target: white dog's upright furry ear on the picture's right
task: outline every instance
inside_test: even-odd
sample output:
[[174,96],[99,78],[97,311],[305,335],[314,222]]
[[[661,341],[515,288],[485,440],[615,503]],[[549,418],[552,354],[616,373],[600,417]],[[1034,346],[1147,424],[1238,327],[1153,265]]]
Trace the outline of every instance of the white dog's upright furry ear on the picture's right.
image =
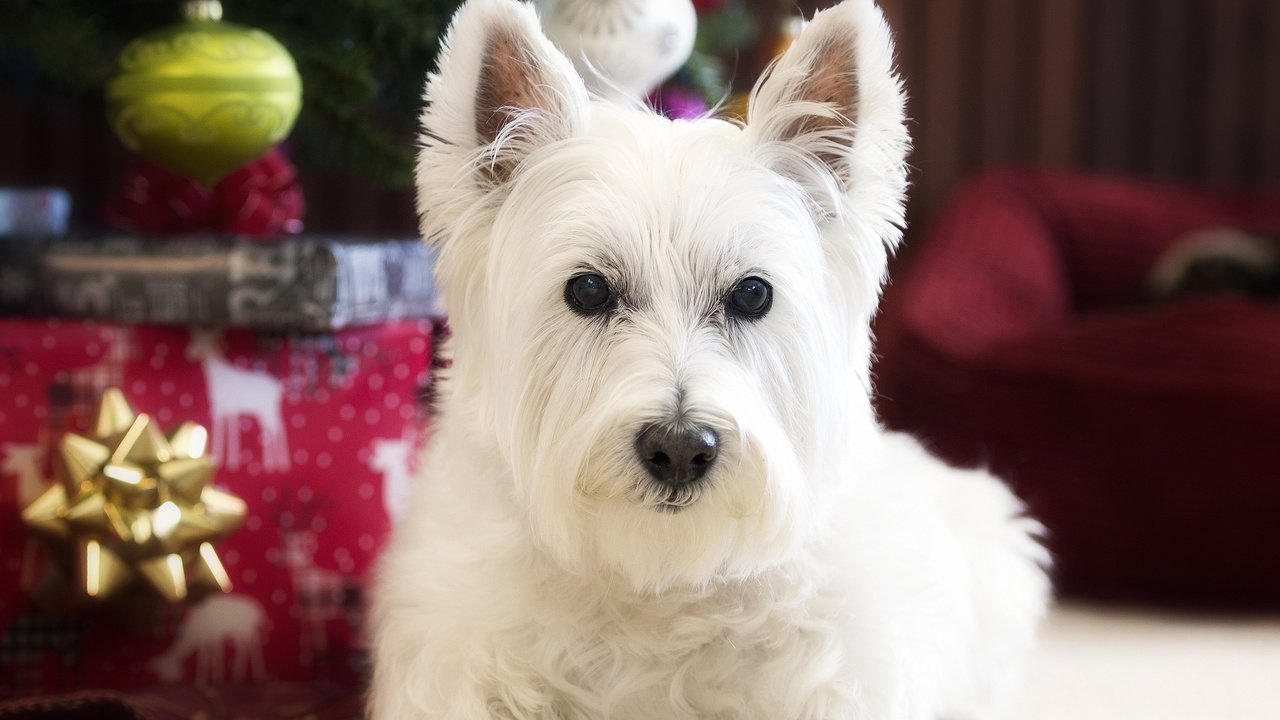
[[901,223],[910,140],[893,42],[872,0],[818,13],[756,83],[748,132],[758,156],[826,214],[852,204]]

